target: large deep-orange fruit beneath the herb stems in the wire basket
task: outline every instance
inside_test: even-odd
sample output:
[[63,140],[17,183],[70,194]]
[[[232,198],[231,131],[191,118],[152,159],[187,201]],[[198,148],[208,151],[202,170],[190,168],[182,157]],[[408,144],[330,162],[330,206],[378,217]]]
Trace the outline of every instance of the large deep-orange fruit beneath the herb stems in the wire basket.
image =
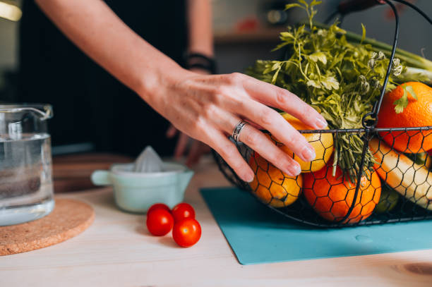
[[[336,175],[332,176],[332,168],[328,164],[320,171],[304,174],[303,193],[318,215],[329,221],[340,221],[352,206],[356,183],[342,176],[339,167]],[[380,195],[381,181],[377,173],[371,173],[370,181],[363,176],[354,209],[343,223],[354,224],[368,218],[378,204]]]

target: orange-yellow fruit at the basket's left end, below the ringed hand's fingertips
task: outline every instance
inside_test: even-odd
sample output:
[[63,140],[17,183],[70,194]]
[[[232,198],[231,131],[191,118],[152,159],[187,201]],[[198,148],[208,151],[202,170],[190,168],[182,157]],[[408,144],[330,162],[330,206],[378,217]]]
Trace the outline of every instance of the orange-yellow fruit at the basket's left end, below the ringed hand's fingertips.
[[303,183],[301,175],[288,176],[256,153],[249,165],[255,173],[255,178],[249,183],[252,193],[265,204],[287,207],[299,198]]

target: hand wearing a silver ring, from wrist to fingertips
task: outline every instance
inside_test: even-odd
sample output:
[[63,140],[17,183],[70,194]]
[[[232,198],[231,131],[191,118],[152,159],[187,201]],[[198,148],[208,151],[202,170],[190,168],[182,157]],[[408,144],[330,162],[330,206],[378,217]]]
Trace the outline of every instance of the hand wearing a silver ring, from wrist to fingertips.
[[323,116],[296,95],[240,73],[198,75],[183,70],[175,74],[146,100],[177,129],[215,149],[244,181],[253,180],[253,171],[227,138],[242,120],[252,124],[244,127],[239,140],[284,173],[296,176],[301,168],[254,126],[269,130],[304,161],[315,159],[306,139],[268,107],[287,111],[313,128],[325,128]]

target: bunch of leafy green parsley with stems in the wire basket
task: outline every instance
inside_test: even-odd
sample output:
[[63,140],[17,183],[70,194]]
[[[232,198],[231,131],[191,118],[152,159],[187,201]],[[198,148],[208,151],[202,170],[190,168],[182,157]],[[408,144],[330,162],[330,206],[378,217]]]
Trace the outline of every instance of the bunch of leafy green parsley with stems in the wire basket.
[[[330,128],[362,128],[362,118],[372,110],[383,87],[389,60],[383,52],[373,51],[366,39],[366,29],[360,43],[350,43],[346,32],[337,26],[318,28],[313,23],[315,6],[299,0],[289,8],[303,8],[308,15],[307,24],[289,27],[280,34],[277,49],[287,49],[284,61],[256,61],[248,74],[267,83],[283,87],[297,94],[313,106],[328,121]],[[395,63],[393,63],[395,64]],[[386,87],[395,88],[395,75],[404,67],[397,60],[397,68]],[[363,140],[361,135],[338,133],[335,137],[334,167],[339,165],[354,179],[359,172]],[[372,169],[371,152],[366,154],[365,166]],[[334,169],[335,172],[335,169]]]

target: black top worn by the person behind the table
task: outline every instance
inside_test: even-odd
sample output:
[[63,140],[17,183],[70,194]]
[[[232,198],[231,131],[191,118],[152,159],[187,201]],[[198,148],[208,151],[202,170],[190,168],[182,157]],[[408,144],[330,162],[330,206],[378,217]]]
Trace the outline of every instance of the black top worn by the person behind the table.
[[[186,0],[105,1],[138,35],[174,61],[187,44]],[[75,47],[34,1],[23,1],[20,102],[52,104],[53,145],[92,142],[97,151],[136,155],[152,145],[172,154],[168,121]]]

